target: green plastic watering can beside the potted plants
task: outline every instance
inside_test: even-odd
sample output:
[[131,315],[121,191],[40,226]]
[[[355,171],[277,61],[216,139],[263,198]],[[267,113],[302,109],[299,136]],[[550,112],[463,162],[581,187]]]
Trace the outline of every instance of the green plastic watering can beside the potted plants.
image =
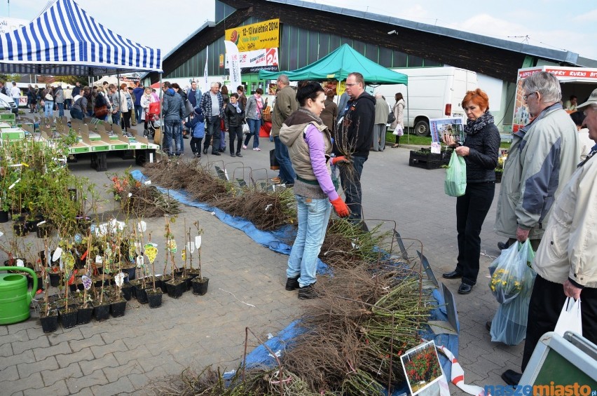
[[27,277],[20,273],[0,273],[0,325],[29,319],[29,303],[37,291],[37,275],[27,267],[0,267],[0,271],[26,271],[32,275],[33,289],[27,292]]

